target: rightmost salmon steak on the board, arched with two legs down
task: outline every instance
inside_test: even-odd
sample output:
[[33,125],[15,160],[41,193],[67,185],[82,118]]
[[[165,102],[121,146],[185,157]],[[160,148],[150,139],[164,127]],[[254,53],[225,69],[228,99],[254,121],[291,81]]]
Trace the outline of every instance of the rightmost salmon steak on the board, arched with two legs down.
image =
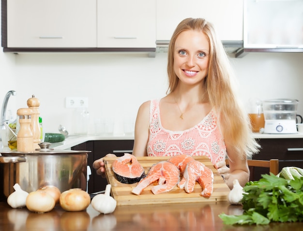
[[178,186],[184,188],[188,193],[194,191],[196,181],[202,187],[201,195],[203,197],[210,197],[213,190],[213,173],[212,170],[206,167],[200,161],[194,160],[187,163],[186,168],[183,173],[184,182],[180,183]]

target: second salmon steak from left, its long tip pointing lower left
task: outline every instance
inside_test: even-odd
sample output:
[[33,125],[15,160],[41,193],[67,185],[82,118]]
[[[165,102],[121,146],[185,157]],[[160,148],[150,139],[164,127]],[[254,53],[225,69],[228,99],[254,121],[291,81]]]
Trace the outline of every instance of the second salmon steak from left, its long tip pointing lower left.
[[147,176],[140,180],[132,193],[140,195],[144,188],[158,180],[158,185],[152,187],[153,194],[168,192],[173,189],[180,180],[179,169],[171,162],[160,161],[152,165]]

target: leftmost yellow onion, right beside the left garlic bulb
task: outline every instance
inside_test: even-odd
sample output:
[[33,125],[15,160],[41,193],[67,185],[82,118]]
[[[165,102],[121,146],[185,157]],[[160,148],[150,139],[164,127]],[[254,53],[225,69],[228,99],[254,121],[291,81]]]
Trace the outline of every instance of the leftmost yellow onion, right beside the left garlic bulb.
[[49,212],[55,207],[55,204],[55,199],[44,191],[30,192],[26,198],[26,207],[32,212]]

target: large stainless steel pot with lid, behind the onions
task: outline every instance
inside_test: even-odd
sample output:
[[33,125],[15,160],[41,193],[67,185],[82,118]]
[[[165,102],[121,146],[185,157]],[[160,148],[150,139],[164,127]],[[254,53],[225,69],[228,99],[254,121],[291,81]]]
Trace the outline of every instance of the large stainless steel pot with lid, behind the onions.
[[[44,143],[41,143],[44,144]],[[53,150],[41,146],[34,152],[1,152],[4,195],[14,192],[13,186],[32,192],[53,185],[61,192],[87,186],[87,157],[91,151]]]

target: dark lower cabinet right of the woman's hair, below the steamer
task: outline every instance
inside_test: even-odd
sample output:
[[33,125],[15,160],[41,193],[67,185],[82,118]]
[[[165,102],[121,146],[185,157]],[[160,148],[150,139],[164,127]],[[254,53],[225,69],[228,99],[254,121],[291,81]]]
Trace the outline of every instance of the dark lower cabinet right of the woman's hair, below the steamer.
[[[303,168],[303,138],[259,139],[260,152],[252,159],[279,159],[279,171],[283,167],[296,166]],[[261,174],[268,173],[264,168],[254,168],[254,180]]]

